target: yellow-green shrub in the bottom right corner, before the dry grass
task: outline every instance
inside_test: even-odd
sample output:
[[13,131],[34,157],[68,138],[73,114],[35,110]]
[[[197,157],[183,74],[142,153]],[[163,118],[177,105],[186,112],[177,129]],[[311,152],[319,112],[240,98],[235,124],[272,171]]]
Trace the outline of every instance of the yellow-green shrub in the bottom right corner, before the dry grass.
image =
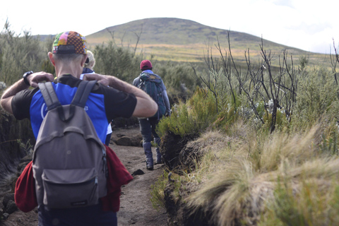
[[303,178],[298,186],[278,181],[274,200],[258,225],[338,225],[338,183],[333,183],[334,189],[316,179]]

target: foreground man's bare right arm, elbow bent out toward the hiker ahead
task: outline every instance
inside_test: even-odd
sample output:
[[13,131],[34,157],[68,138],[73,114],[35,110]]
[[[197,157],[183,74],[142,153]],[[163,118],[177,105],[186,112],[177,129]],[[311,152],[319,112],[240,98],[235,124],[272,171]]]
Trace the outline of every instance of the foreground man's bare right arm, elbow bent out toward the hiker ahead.
[[102,83],[102,85],[109,85],[124,93],[133,93],[137,100],[136,108],[132,114],[134,117],[153,117],[157,112],[157,103],[154,102],[150,95],[129,83],[121,81],[119,78],[100,74],[85,74],[83,80],[97,80],[99,83]]

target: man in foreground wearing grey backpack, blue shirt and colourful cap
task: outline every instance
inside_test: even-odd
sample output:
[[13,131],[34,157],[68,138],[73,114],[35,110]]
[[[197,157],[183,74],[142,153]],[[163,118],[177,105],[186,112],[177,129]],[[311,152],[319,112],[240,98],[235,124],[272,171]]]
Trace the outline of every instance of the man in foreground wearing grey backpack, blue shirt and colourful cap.
[[86,74],[81,81],[88,55],[78,32],[59,33],[52,48],[57,78],[29,71],[0,100],[16,119],[30,119],[37,139],[27,177],[16,183],[16,203],[29,211],[34,205],[21,198],[36,202],[39,226],[117,225],[120,187],[133,177],[103,144],[107,126],[116,117],[151,117],[157,104],[114,76]]

